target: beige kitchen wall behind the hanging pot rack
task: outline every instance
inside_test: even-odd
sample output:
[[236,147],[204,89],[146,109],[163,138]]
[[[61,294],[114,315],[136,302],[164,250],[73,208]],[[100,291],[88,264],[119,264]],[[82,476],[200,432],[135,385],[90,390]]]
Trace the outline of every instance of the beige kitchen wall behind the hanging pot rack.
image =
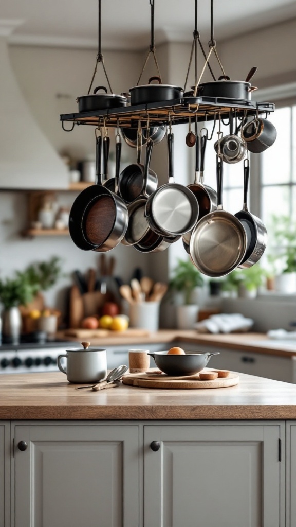
[[[296,79],[294,58],[296,21],[272,26],[262,31],[235,37],[217,43],[219,55],[227,73],[234,79],[244,79],[253,65],[259,70],[254,83],[259,87],[267,83],[282,84]],[[206,47],[206,46],[205,46]],[[163,44],[156,48],[164,83],[184,85],[190,57],[191,43]],[[67,48],[11,46],[9,48],[13,69],[24,96],[48,140],[58,152],[68,152],[75,159],[82,159],[94,151],[94,129],[92,126],[75,126],[71,133],[62,130],[61,113],[75,112],[76,97],[87,93],[96,58],[95,50]],[[114,93],[126,91],[136,84],[146,50],[138,52],[105,52],[105,66],[110,76]],[[203,63],[200,52],[200,66]],[[218,65],[211,61],[215,72]],[[99,66],[101,69],[101,66]],[[155,66],[150,58],[143,83],[154,75]],[[95,85],[105,84],[103,71],[97,73]],[[209,80],[206,72],[205,80]],[[194,82],[192,66],[189,84]],[[57,96],[60,94],[61,96]],[[192,152],[185,147],[186,130],[176,127],[175,133],[175,174],[178,181],[186,182],[193,173]],[[111,133],[112,138],[114,134]],[[113,143],[114,144],[114,143]],[[113,148],[113,147],[112,147]],[[123,159],[134,161],[135,152],[124,145]],[[166,144],[157,145],[152,155],[152,168],[159,176],[160,183],[166,181]],[[42,174],[40,175],[42,177]],[[180,179],[179,179],[180,178]],[[72,199],[72,196],[68,197]],[[31,261],[46,259],[52,255],[63,258],[66,272],[78,268],[86,270],[97,265],[98,255],[77,249],[71,239],[22,240],[19,230],[26,225],[25,197],[15,193],[0,193],[0,272],[7,276],[15,269],[22,269]],[[172,246],[171,251],[157,255],[142,255],[133,248],[119,246],[113,251],[117,258],[115,274],[129,279],[135,266],[141,266],[154,278],[166,279],[169,267],[176,257],[186,257],[181,242]],[[63,280],[63,286],[70,285],[71,278]],[[59,285],[48,296],[50,304],[58,301]]]

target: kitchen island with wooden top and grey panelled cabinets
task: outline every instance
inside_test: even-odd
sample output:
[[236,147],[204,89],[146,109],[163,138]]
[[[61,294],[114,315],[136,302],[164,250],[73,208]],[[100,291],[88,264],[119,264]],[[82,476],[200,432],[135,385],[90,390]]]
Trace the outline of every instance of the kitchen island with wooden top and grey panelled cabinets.
[[295,525],[293,384],[75,386],[1,376],[1,526]]

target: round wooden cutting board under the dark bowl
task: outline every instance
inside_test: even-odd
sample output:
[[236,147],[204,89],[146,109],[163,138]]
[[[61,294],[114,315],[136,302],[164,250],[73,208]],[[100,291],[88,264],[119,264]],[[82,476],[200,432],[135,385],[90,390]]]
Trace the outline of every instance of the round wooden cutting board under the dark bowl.
[[[219,372],[224,370],[205,368],[205,372]],[[140,386],[141,388],[175,388],[175,389],[196,389],[196,388],[225,388],[239,384],[240,377],[237,373],[230,372],[228,377],[218,377],[214,380],[201,380],[199,374],[186,377],[170,377],[169,375],[155,374],[153,372],[131,373],[124,375],[123,384],[130,386]]]

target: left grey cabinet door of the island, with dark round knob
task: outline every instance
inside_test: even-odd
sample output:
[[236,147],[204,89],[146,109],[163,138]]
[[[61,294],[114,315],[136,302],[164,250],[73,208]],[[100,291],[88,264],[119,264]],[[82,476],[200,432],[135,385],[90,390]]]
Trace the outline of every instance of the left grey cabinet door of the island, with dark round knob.
[[[16,527],[137,527],[137,426],[16,426]],[[31,489],[31,495],[30,495]]]

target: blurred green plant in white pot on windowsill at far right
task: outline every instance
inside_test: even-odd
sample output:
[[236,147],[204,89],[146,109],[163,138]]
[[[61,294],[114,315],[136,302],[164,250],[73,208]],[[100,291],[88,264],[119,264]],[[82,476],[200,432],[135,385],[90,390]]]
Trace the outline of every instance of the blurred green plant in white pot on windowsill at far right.
[[278,292],[296,292],[296,221],[289,216],[272,216],[270,251],[267,256]]

